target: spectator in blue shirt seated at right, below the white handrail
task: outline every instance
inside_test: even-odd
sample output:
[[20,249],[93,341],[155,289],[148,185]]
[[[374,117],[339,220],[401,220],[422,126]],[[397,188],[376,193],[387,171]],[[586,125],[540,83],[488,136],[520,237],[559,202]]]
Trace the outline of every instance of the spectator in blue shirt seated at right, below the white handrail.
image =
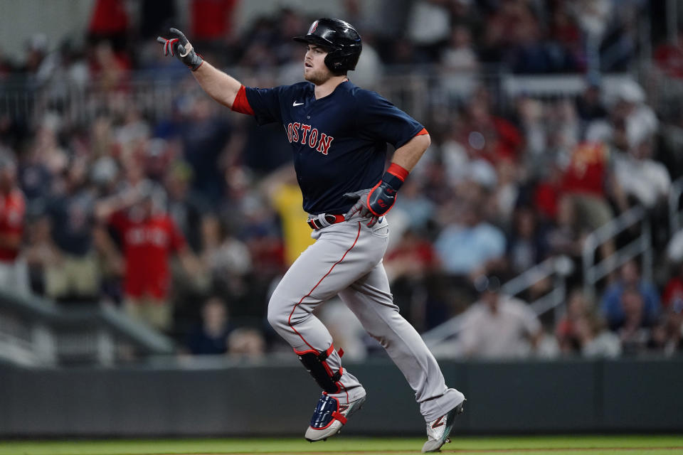
[[[642,299],[642,321],[652,323],[660,314],[660,294],[654,284],[640,277],[640,270],[635,261],[630,260],[623,264],[619,272],[619,278],[605,289],[600,302],[600,309],[607,318],[610,328],[615,329],[623,326],[626,321],[623,306],[623,294],[626,289],[636,289]],[[631,291],[630,294],[633,294]],[[630,296],[630,303],[633,296]],[[632,308],[631,308],[632,309]],[[633,315],[630,315],[633,317]]]

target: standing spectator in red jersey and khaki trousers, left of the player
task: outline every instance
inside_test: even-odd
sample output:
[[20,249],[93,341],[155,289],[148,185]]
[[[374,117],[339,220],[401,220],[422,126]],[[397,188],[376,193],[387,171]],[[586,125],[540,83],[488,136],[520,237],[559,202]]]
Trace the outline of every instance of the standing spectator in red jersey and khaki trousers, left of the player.
[[119,196],[104,200],[97,217],[120,236],[124,255],[124,309],[129,316],[169,331],[173,309],[169,262],[178,255],[186,272],[196,276],[201,265],[173,219],[154,202],[156,191],[142,181]]

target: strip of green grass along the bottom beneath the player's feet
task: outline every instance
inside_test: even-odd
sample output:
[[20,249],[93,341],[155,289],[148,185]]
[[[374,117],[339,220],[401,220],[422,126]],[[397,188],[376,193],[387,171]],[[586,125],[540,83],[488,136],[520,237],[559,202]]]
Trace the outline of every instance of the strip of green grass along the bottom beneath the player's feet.
[[[304,439],[138,439],[102,441],[0,441],[0,455],[195,455],[195,454],[417,454],[421,438],[334,437]],[[445,454],[614,455],[683,454],[681,436],[457,437]]]

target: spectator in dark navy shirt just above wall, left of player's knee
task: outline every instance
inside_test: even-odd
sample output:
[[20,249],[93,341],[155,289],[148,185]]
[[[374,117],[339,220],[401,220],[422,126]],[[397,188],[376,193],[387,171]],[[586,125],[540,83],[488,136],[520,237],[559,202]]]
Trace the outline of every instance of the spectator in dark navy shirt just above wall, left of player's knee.
[[194,355],[225,354],[228,336],[234,329],[226,303],[219,297],[211,297],[201,307],[201,323],[187,336],[186,346]]

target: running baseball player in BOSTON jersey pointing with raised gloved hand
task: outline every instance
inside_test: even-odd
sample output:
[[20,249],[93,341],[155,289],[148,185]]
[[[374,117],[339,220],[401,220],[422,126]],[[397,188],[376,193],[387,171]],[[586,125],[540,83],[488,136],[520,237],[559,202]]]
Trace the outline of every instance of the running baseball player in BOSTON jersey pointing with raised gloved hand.
[[[321,18],[295,37],[306,44],[306,82],[268,89],[244,87],[204,61],[183,33],[171,28],[171,36],[157,38],[164,53],[185,63],[208,95],[259,124],[280,123],[292,144],[316,242],[273,292],[268,321],[323,390],[306,439],[337,434],[366,399],[361,382],[342,368],[342,350],[313,315],[317,305],[339,295],[413,387],[427,422],[423,452],[438,451],[465,396],[446,387],[434,356],[398,313],[382,264],[389,236],[383,215],[429,146],[429,134],[383,97],[349,81],[346,73],[356,68],[362,45],[344,21]],[[385,172],[387,143],[396,151]]]

